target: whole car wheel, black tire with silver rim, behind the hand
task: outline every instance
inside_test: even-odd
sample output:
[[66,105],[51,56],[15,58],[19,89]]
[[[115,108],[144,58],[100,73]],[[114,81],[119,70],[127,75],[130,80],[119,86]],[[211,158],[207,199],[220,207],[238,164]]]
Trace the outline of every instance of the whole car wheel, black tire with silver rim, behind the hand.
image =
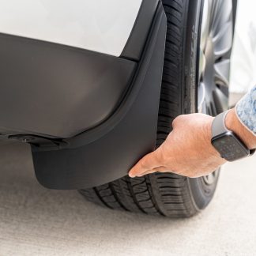
[[[233,40],[232,0],[163,0],[168,18],[156,147],[178,115],[216,115],[228,108]],[[213,198],[219,171],[198,179],[156,173],[80,190],[111,209],[189,217]]]

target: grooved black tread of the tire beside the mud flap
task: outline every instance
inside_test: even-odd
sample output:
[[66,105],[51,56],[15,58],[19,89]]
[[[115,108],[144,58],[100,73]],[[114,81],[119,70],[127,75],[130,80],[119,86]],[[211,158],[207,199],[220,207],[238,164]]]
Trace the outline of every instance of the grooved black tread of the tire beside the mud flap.
[[[172,120],[183,112],[183,92],[180,85],[187,1],[162,2],[168,18],[168,32],[156,146],[161,145],[168,136]],[[89,201],[111,209],[169,217],[188,217],[197,213],[187,178],[171,173],[156,173],[134,179],[126,176],[104,186],[80,192]]]

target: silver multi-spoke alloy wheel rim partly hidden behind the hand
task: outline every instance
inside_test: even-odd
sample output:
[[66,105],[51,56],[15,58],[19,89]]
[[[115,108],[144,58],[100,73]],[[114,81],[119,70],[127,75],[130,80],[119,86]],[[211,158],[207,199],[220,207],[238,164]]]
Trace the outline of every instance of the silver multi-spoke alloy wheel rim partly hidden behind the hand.
[[[205,0],[198,43],[198,112],[212,116],[228,109],[233,41],[232,0]],[[203,177],[213,184],[218,171]]]

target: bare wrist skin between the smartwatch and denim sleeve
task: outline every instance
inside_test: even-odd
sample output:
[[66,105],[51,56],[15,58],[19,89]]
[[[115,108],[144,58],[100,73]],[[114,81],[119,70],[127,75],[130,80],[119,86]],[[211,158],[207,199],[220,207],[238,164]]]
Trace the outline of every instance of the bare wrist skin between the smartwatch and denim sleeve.
[[247,145],[248,149],[256,148],[256,137],[251,134],[245,126],[243,126],[235,114],[234,108],[228,112],[225,119],[225,125],[228,130],[232,130],[243,141],[243,143]]

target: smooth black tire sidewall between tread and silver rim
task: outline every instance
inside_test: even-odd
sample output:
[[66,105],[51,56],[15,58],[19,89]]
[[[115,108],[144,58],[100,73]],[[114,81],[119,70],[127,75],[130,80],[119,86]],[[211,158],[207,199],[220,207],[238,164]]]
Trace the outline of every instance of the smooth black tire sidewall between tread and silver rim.
[[[187,9],[187,28],[183,58],[183,114],[190,114],[198,111],[198,61],[203,5],[204,0],[189,1]],[[206,184],[203,178],[187,178],[190,188],[190,197],[194,202],[194,207],[196,209],[205,209],[205,207],[209,204],[216,190],[218,178],[219,174],[217,174],[214,183],[210,185]]]

